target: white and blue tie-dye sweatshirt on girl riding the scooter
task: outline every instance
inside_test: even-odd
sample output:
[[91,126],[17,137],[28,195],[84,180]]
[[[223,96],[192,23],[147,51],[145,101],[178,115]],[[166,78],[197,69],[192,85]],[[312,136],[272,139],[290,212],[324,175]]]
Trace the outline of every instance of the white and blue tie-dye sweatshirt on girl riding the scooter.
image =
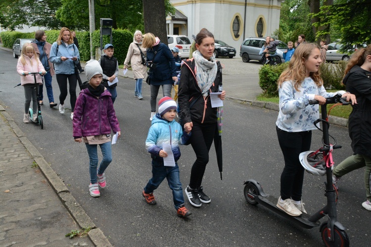
[[316,129],[314,121],[320,118],[319,105],[309,105],[315,95],[325,98],[345,91],[326,92],[324,86],[318,87],[312,78],[307,77],[296,91],[291,81],[285,81],[278,87],[279,113],[276,125],[288,132],[300,132]]

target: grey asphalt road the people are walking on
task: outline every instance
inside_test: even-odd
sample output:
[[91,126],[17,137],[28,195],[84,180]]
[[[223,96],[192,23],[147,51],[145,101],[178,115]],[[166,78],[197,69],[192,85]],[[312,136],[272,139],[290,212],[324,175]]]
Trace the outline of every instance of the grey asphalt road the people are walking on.
[[[233,61],[238,62],[236,59]],[[283,158],[275,129],[277,112],[225,100],[223,180],[220,180],[212,147],[203,179],[204,191],[211,197],[211,203],[194,208],[186,200],[185,205],[193,214],[182,219],[176,216],[165,181],[154,193],[156,206],[145,204],[141,196],[151,176],[150,156],[144,145],[150,126],[150,92],[145,83],[144,99],[140,101],[134,97],[134,81],[119,80],[115,110],[122,137],[112,148],[113,162],[106,170],[108,186],[101,190],[100,198],[92,198],[88,190],[89,158],[85,145],[73,141],[69,98],[65,103],[66,113],[61,115],[57,108],[47,106],[45,92],[44,129],[36,124],[24,124],[23,88],[13,88],[20,81],[16,62],[10,52],[0,50],[1,104],[113,246],[323,245],[319,228],[300,228],[261,205],[248,205],[243,196],[243,182],[249,178],[259,181],[267,194],[279,195]],[[81,76],[84,80],[85,75]],[[55,78],[52,84],[58,102]],[[334,161],[339,163],[352,154],[348,131],[330,126],[330,134],[343,145],[334,152]],[[320,131],[314,131],[313,149],[320,147],[321,137]],[[181,150],[179,166],[185,188],[195,156],[190,146]],[[308,213],[325,205],[324,181],[324,177],[305,175],[303,201]],[[370,212],[361,206],[365,201],[363,170],[348,174],[340,182],[338,219],[346,227],[351,246],[369,246]]]

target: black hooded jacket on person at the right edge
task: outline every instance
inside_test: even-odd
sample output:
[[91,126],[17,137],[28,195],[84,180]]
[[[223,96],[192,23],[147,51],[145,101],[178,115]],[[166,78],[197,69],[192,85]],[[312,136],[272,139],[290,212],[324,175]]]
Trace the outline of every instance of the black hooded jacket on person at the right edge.
[[347,92],[357,97],[349,115],[348,130],[353,152],[371,157],[371,72],[354,66],[344,77]]

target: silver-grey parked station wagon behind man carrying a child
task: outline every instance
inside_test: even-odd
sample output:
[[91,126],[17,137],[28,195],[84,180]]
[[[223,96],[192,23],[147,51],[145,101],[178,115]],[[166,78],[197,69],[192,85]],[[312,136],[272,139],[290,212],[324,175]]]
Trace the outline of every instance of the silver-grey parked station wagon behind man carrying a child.
[[[249,62],[250,60],[258,60],[262,58],[262,55],[259,55],[261,48],[265,43],[265,38],[248,38],[245,39],[240,47],[239,56],[242,57],[242,61],[244,63]],[[287,44],[279,41],[277,46],[277,54],[278,57],[276,58],[277,63],[284,63],[285,60],[283,59],[283,51],[287,50]]]

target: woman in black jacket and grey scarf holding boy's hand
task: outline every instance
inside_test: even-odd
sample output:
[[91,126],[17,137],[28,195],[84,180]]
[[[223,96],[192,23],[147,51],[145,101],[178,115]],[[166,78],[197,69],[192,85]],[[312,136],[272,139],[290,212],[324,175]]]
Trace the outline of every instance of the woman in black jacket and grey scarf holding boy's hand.
[[202,177],[209,162],[209,150],[217,131],[217,108],[211,105],[210,93],[220,92],[218,97],[224,100],[226,91],[221,90],[222,66],[214,56],[214,36],[207,29],[201,29],[196,36],[196,48],[193,58],[185,61],[179,83],[180,118],[183,124],[190,124],[192,135],[189,143],[196,154],[189,185],[185,194],[193,206],[210,203],[203,192]]

